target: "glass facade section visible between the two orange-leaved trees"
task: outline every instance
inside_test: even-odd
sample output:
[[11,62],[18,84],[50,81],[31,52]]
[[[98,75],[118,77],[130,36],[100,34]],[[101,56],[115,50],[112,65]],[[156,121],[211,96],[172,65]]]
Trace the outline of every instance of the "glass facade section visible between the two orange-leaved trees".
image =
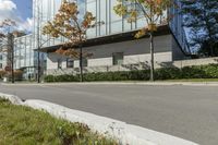
[[[117,15],[113,11],[116,4],[117,0],[86,0],[86,11],[96,16],[96,24],[98,24],[88,29],[88,38],[135,31],[145,25],[145,21],[140,16],[136,22],[128,23],[126,17]],[[129,7],[135,8],[135,4],[130,3]]]

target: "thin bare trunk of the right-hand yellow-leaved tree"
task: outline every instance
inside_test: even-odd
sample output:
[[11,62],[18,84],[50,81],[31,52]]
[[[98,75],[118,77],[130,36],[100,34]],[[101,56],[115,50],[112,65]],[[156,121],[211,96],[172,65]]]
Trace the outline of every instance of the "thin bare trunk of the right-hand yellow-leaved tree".
[[154,36],[153,33],[150,32],[150,81],[155,81],[154,78],[154,72],[155,72],[155,67],[154,67]]

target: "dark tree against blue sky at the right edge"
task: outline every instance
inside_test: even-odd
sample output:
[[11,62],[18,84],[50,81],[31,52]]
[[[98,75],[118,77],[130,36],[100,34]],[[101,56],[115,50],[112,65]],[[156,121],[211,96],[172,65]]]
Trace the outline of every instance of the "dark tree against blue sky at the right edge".
[[184,26],[191,31],[191,43],[198,53],[218,56],[218,1],[181,0]]

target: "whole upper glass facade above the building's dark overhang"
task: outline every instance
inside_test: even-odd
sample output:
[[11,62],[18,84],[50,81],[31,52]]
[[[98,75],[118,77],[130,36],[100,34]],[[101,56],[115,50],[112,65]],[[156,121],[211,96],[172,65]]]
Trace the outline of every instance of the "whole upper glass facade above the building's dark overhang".
[[[39,44],[43,47],[56,46],[66,41],[63,37],[51,39],[41,35],[43,26],[53,19],[58,12],[62,0],[35,0],[34,1],[34,38],[39,34]],[[125,17],[117,15],[113,7],[117,0],[70,0],[76,1],[81,17],[86,11],[92,12],[96,17],[96,26],[87,31],[87,38],[104,37],[107,35],[135,31],[145,26],[143,16],[138,16],[136,22],[128,23]],[[128,3],[130,9],[136,8],[135,3]],[[37,40],[35,40],[37,41]],[[35,43],[36,47],[37,44]]]

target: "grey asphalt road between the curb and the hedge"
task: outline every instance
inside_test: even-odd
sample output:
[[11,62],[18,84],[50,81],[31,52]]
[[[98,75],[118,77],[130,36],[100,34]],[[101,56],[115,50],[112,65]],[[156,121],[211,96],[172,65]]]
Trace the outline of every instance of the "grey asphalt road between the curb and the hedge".
[[93,112],[203,145],[218,145],[218,86],[1,85],[0,92]]

